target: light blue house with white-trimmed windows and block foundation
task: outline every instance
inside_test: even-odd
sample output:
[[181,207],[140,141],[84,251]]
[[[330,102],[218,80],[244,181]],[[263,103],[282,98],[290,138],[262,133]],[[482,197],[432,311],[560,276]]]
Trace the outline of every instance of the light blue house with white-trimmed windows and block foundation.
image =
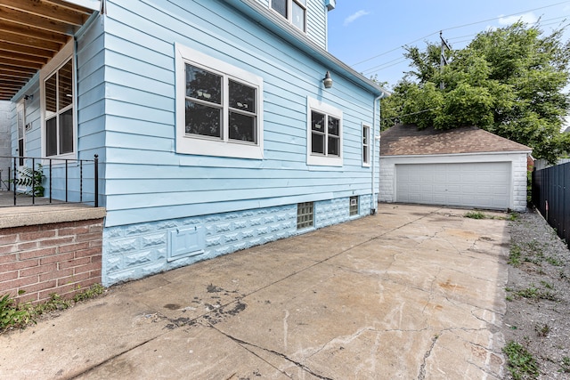
[[98,155],[103,285],[376,211],[386,92],[327,52],[334,0],[67,3],[4,99],[12,155],[19,112],[27,157]]

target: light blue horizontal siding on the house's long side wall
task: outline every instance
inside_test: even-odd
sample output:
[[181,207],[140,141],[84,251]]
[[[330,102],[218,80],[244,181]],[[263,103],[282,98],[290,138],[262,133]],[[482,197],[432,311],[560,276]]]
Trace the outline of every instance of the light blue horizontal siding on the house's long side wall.
[[[223,2],[107,4],[106,225],[371,193],[371,169],[362,167],[360,137],[362,122],[372,123],[371,93],[335,76],[334,68],[298,53]],[[263,160],[175,152],[175,43],[263,78]],[[99,44],[94,42],[94,49]],[[322,77],[328,69],[335,85],[324,90]],[[85,96],[97,98],[100,91],[85,82]],[[306,165],[307,96],[342,109],[344,166]],[[89,118],[95,117],[96,104],[85,100],[81,109],[90,130],[96,128]],[[93,150],[95,141],[85,140],[85,147]]]

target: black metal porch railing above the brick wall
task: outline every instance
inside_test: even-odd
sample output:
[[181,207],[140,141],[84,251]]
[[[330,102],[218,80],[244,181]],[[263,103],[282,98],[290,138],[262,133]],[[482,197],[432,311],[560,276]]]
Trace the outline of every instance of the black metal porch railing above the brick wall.
[[[0,191],[12,193],[13,206],[19,206],[21,195],[27,195],[31,205],[58,201],[99,206],[98,155],[94,155],[94,159],[0,158],[10,160],[9,166],[0,167]],[[42,202],[37,202],[39,199]]]

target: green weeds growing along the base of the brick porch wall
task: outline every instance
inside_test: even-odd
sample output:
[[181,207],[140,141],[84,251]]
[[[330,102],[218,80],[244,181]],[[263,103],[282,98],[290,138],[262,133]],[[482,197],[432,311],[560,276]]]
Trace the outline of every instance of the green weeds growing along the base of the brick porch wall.
[[104,290],[101,284],[94,284],[77,293],[70,300],[62,298],[57,293],[52,293],[45,303],[37,304],[16,304],[10,295],[3,295],[0,298],[0,333],[9,328],[24,328],[30,323],[36,323],[37,318],[46,312],[68,309],[74,303],[102,295]]

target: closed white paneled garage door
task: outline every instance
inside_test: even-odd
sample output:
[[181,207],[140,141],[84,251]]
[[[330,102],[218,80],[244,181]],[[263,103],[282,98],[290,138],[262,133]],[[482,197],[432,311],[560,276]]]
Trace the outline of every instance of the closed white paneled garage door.
[[396,165],[396,202],[505,209],[510,163]]

